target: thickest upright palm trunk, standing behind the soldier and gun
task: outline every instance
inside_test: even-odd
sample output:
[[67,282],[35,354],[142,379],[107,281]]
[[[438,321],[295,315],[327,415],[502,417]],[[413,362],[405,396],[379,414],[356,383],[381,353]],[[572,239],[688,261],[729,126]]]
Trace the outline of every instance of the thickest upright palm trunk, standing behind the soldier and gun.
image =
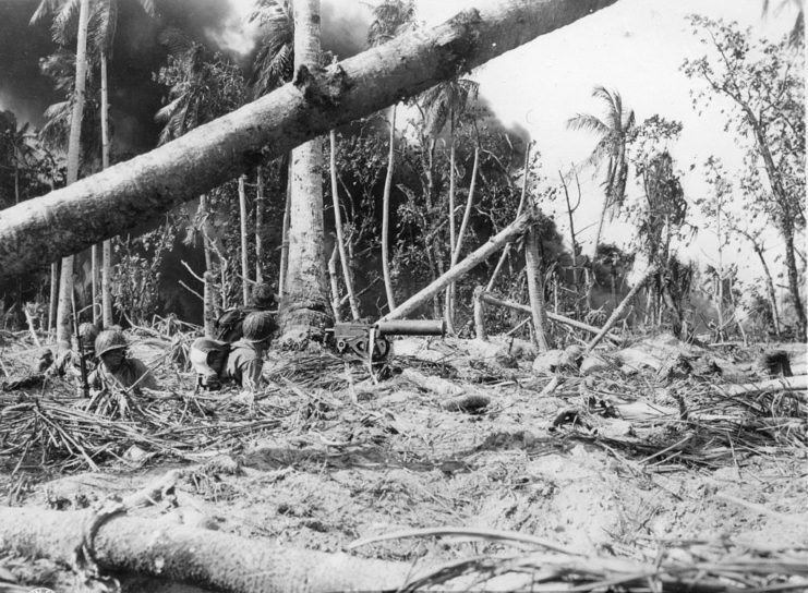
[[[294,3],[294,70],[316,72],[319,0]],[[322,340],[330,322],[323,228],[323,145],[318,137],[292,150],[289,269],[280,302],[281,343]]]

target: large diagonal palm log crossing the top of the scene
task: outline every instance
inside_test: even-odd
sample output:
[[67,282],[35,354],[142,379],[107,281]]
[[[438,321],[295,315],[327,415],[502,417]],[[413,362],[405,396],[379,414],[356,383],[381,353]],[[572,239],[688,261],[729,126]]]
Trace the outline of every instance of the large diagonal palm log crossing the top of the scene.
[[[478,0],[154,150],[0,213],[0,281],[131,230],[266,158],[455,77],[616,0]],[[581,40],[584,43],[584,40]]]

